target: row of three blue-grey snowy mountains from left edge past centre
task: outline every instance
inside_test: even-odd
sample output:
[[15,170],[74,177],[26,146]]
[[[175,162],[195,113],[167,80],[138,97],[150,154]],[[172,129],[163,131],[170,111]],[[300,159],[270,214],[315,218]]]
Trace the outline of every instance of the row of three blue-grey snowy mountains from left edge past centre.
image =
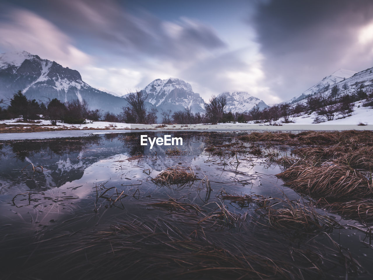
[[[57,62],[41,59],[28,52],[0,54],[0,99],[9,99],[18,90],[29,99],[47,101],[57,98],[62,102],[73,99],[86,100],[91,109],[102,109],[119,113],[128,106],[125,95],[121,96],[104,89],[91,87],[78,71],[63,67]],[[205,102],[195,93],[189,83],[178,78],[156,79],[142,89],[148,98],[147,108],[156,106],[160,113],[189,108],[192,113],[203,112]],[[256,104],[260,109],[267,107],[263,100],[247,92],[225,92],[227,111],[248,112]]]

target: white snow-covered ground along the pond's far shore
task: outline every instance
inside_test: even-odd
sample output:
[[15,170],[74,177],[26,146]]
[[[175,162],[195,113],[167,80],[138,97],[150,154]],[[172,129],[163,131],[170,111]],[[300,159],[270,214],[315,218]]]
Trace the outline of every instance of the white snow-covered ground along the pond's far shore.
[[[373,109],[370,107],[361,106],[362,102],[356,102],[354,112],[351,116],[343,119],[334,119],[332,121],[321,122],[314,124],[314,118],[317,116],[315,112],[308,115],[304,113],[301,116],[291,118],[293,123],[282,123],[281,125],[269,124],[254,124],[254,123],[226,123],[226,124],[126,124],[121,122],[90,122],[87,124],[65,124],[57,122],[56,126],[51,126],[49,121],[39,120],[40,123],[25,123],[19,119],[9,119],[0,121],[0,124],[7,125],[22,125],[27,128],[31,125],[38,125],[40,127],[64,129],[59,131],[42,131],[42,132],[28,132],[28,133],[0,133],[0,140],[19,140],[19,139],[44,139],[56,137],[76,137],[87,136],[89,134],[102,133],[125,133],[131,131],[175,131],[175,130],[189,130],[189,131],[302,131],[302,130],[373,130]],[[280,123],[280,121],[278,121]],[[366,125],[358,125],[358,124]]]

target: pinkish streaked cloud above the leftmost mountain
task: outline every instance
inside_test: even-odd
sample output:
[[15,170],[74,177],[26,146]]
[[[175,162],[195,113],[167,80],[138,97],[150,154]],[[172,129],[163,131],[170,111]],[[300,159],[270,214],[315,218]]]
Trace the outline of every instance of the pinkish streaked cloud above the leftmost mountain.
[[74,67],[91,58],[74,47],[70,38],[56,26],[22,9],[12,9],[0,24],[0,48],[5,51],[26,50],[42,58]]

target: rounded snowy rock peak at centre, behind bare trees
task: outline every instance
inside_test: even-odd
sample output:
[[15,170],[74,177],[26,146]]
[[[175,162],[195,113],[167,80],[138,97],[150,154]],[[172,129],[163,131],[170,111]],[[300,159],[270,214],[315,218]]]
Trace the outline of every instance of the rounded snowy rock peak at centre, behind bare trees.
[[201,112],[205,105],[200,94],[194,93],[189,83],[177,78],[154,80],[142,91],[148,94],[147,101],[157,106],[159,112],[169,109],[175,112],[189,108],[192,113],[197,113]]

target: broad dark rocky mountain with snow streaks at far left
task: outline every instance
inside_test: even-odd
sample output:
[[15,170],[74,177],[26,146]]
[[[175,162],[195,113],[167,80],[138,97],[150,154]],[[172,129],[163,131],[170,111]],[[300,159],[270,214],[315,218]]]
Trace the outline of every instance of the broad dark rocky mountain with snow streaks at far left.
[[0,99],[12,97],[18,90],[28,99],[42,101],[84,99],[91,109],[115,113],[128,104],[120,97],[91,87],[82,81],[78,71],[57,62],[25,51],[0,54]]

